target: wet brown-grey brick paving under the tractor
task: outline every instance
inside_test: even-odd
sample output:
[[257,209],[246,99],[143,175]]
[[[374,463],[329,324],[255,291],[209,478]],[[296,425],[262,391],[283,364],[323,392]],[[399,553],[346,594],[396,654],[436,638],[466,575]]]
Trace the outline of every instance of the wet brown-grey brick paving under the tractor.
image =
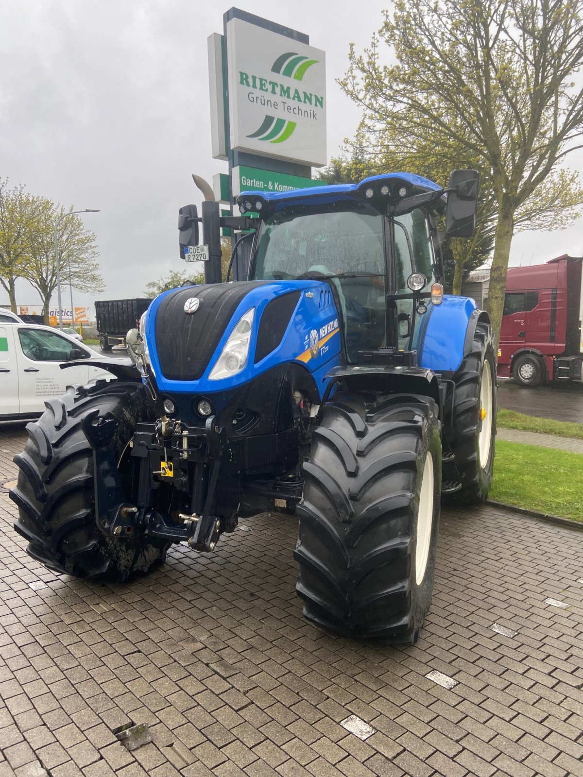
[[[0,429],[0,482],[24,438]],[[113,585],[39,566],[15,515],[0,486],[0,777],[583,775],[581,531],[444,510],[431,612],[394,648],[305,622],[294,517]],[[152,743],[117,742],[129,721]]]

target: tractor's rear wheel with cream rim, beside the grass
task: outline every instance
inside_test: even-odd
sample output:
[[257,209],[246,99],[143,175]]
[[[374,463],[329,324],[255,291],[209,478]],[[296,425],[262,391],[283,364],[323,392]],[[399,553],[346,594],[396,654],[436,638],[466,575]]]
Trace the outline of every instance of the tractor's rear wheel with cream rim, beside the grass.
[[481,504],[492,484],[496,437],[496,361],[489,324],[478,322],[470,354],[453,381],[456,393],[447,441],[462,487],[446,498],[456,504]]

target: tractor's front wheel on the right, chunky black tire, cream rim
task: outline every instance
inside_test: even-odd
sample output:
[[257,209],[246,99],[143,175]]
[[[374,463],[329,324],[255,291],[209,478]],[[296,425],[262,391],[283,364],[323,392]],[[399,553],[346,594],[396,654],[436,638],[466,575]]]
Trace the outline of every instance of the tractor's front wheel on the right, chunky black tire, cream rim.
[[417,641],[433,590],[441,456],[431,399],[340,393],[326,403],[297,508],[306,618],[359,639]]

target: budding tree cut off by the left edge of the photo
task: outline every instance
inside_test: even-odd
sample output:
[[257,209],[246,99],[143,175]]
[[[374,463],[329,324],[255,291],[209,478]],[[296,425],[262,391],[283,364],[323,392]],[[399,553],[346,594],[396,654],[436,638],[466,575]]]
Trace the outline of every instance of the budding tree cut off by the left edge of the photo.
[[37,202],[24,186],[9,189],[0,179],[0,284],[8,292],[10,308],[16,313],[16,278],[23,275],[28,253],[27,235],[34,228]]

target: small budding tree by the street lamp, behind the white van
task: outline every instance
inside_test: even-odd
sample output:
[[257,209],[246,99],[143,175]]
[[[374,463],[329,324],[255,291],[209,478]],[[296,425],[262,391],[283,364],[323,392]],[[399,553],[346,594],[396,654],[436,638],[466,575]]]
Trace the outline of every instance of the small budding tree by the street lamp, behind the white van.
[[[21,268],[21,275],[40,294],[44,322],[48,323],[51,296],[57,288],[54,227],[57,219],[68,211],[46,197],[34,199],[36,218],[30,228],[26,228],[26,262]],[[70,210],[73,210],[73,206]],[[99,274],[99,263],[95,261],[96,256],[99,256],[95,235],[86,230],[78,215],[68,216],[59,223],[57,240],[61,280],[70,280],[79,291],[105,291],[103,278]]]

